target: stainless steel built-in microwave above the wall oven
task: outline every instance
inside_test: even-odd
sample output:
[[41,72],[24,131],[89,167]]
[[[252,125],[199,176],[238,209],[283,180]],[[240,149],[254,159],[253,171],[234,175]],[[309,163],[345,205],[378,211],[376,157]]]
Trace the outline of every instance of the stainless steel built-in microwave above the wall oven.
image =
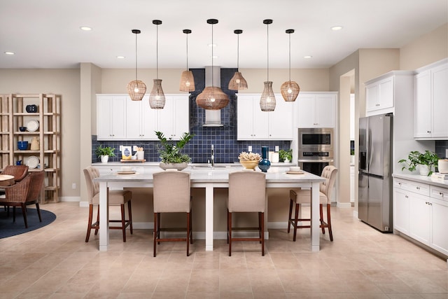
[[332,151],[333,138],[331,127],[299,128],[299,151]]

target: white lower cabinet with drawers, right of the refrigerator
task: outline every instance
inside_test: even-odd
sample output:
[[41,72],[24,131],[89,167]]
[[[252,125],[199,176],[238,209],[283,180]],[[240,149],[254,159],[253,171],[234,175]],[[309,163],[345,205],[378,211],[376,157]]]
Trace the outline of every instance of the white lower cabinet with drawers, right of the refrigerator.
[[395,178],[393,228],[448,256],[448,188]]

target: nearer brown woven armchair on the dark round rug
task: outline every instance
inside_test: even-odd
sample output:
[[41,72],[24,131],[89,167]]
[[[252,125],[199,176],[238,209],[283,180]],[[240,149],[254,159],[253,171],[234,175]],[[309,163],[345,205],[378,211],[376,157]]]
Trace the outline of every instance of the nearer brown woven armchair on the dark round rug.
[[28,228],[27,206],[29,204],[36,204],[39,221],[42,222],[38,200],[43,185],[43,176],[43,172],[30,172],[18,183],[3,187],[5,197],[0,197],[0,205],[13,207],[13,222],[15,222],[15,207],[21,207],[25,228]]

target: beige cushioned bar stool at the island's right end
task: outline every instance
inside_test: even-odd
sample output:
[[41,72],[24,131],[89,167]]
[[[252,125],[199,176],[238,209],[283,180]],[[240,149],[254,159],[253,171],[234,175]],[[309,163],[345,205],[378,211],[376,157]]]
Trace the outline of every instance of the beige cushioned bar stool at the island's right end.
[[[337,168],[328,165],[325,166],[322,170],[321,176],[325,179],[323,183],[320,184],[319,187],[319,211],[320,211],[320,220],[322,228],[322,233],[325,234],[325,228],[328,228],[328,233],[330,235],[330,241],[333,240],[333,234],[331,230],[331,216],[330,216],[330,207],[331,207],[331,194],[333,190],[333,186],[335,185],[337,174]],[[293,241],[295,242],[295,237],[297,235],[297,228],[310,228],[310,225],[297,225],[298,221],[311,221],[311,219],[301,219],[299,218],[299,209],[300,204],[311,203],[311,190],[302,190],[302,189],[293,189],[289,191],[289,220],[288,220],[288,232],[290,232],[290,226],[293,225],[294,228],[294,236]],[[295,216],[291,218],[293,214],[293,203],[295,202]],[[323,211],[322,206],[326,204],[327,206],[327,221],[323,221]]]

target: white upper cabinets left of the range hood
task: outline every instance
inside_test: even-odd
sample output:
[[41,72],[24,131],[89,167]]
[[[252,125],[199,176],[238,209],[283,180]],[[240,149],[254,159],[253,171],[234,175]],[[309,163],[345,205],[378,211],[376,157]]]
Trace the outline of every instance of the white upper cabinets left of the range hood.
[[189,95],[165,95],[164,109],[151,109],[149,95],[97,95],[98,140],[158,140],[155,131],[179,140],[190,132]]

